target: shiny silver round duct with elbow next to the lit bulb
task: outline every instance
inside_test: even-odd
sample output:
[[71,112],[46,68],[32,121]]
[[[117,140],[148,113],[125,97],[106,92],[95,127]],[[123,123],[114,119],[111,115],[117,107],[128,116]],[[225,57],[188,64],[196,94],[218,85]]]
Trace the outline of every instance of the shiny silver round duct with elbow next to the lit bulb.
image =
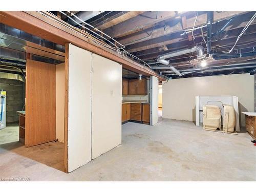
[[168,65],[169,61],[165,60],[166,58],[176,57],[176,56],[179,56],[179,55],[184,55],[184,54],[192,53],[192,52],[195,52],[195,51],[197,51],[197,58],[199,58],[199,59],[204,58],[204,47],[203,46],[195,46],[195,47],[190,48],[190,49],[181,49],[181,50],[174,51],[174,52],[171,52],[171,53],[166,53],[166,54],[163,54],[163,55],[159,55],[157,57],[157,61],[162,63],[163,65]]

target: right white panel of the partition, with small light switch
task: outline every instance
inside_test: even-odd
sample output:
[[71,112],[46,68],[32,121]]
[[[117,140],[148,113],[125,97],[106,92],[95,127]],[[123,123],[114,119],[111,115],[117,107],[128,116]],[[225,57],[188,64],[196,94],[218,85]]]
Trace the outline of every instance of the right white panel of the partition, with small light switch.
[[92,159],[121,144],[122,66],[93,54]]

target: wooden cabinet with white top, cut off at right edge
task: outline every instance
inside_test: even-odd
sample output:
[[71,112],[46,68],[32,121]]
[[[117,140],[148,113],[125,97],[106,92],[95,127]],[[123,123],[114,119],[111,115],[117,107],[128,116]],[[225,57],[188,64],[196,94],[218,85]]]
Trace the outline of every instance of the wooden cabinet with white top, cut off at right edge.
[[245,114],[245,127],[249,135],[256,139],[256,113],[254,112],[242,112]]

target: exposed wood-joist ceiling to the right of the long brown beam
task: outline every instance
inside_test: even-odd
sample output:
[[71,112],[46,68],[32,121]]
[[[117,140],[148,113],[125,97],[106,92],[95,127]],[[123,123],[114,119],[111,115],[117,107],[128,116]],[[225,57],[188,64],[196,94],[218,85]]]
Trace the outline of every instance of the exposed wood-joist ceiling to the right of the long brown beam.
[[[255,12],[213,11],[211,50],[226,53],[235,44]],[[65,18],[64,18],[65,19]],[[105,11],[86,21],[125,46],[125,50],[149,63],[159,66],[161,54],[202,45],[206,50],[206,11]],[[256,20],[248,26],[231,54],[254,52],[256,46]],[[79,27],[79,26],[77,26]],[[223,30],[221,30],[223,28]],[[193,29],[193,33],[189,30]],[[209,55],[206,55],[208,57]],[[246,61],[252,57],[244,57]],[[179,70],[197,68],[197,53],[187,53],[168,59]],[[210,59],[210,65],[233,63],[238,59]],[[251,61],[251,60],[250,60]],[[241,62],[241,60],[240,60]],[[254,68],[253,68],[254,69]],[[247,73],[252,68],[223,70],[221,73]],[[157,70],[160,72],[161,70]],[[219,74],[221,74],[219,73]],[[209,73],[209,75],[212,73]],[[215,74],[218,74],[215,72]],[[201,74],[202,75],[202,74]],[[206,73],[204,74],[206,75]]]

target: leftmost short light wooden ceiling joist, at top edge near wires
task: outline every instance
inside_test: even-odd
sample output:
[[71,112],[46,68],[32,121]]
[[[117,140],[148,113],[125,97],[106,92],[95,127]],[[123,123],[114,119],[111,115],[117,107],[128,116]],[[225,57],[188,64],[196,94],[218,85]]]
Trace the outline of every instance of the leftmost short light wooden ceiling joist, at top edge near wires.
[[109,27],[112,27],[114,25],[117,25],[121,22],[124,22],[125,20],[128,20],[130,18],[133,18],[135,16],[138,16],[142,13],[144,13],[145,11],[122,11],[120,14],[118,15],[114,15],[108,19],[105,19],[103,22],[95,25],[96,28],[103,30]]

